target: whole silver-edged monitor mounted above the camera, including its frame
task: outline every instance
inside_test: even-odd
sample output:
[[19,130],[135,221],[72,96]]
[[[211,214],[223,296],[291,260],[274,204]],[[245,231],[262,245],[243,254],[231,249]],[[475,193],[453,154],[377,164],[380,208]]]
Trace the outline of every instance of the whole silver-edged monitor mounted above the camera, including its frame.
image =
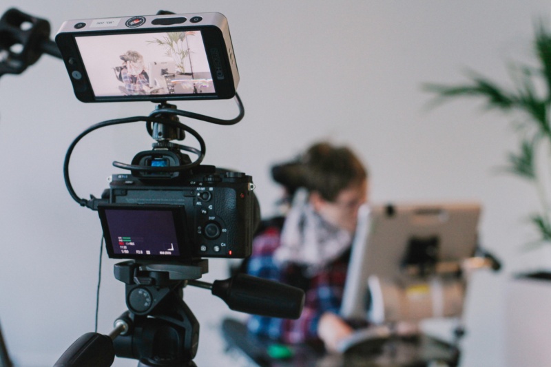
[[239,82],[220,13],[66,21],[56,43],[83,102],[225,99]]

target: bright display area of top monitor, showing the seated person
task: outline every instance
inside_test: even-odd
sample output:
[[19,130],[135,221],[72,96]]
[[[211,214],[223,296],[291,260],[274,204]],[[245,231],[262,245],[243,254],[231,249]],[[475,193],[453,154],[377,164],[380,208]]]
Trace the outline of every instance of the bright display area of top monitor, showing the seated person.
[[75,36],[96,98],[214,94],[200,30]]

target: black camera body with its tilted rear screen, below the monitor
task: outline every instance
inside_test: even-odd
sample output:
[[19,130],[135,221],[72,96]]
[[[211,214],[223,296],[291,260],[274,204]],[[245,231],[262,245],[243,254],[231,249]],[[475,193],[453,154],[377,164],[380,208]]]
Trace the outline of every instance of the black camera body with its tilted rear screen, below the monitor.
[[[154,153],[154,162],[172,156]],[[163,174],[164,176],[165,174]],[[251,176],[200,165],[176,178],[114,174],[98,205],[110,258],[246,258],[258,222]]]

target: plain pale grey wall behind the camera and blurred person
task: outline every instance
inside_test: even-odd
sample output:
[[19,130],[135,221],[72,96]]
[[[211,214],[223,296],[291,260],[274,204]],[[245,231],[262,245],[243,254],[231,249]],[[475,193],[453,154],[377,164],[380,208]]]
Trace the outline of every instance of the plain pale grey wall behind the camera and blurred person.
[[[503,365],[503,289],[521,266],[517,255],[530,234],[522,218],[535,199],[523,182],[493,171],[516,143],[508,119],[480,114],[469,101],[429,112],[430,95],[421,85],[463,81],[465,67],[506,81],[504,61],[526,58],[532,21],[548,18],[548,1],[3,0],[0,12],[12,6],[48,19],[52,36],[66,19],[160,9],[225,14],[246,115],[233,127],[189,122],[207,142],[205,162],[251,174],[266,214],[279,193],[269,165],[322,138],[349,144],[362,156],[375,202],[479,200],[482,244],[506,268],[500,275],[481,273],[472,283],[463,365]],[[0,79],[0,321],[20,366],[51,366],[94,328],[101,230],[96,213],[76,205],[65,189],[65,150],[94,123],[145,115],[153,107],[80,103],[63,63],[50,56]],[[236,114],[232,101],[178,107]],[[129,162],[151,141],[141,124],[92,133],[72,159],[76,192],[101,194],[105,178],[117,172],[112,160]],[[102,271],[103,333],[125,310],[112,264],[105,259]],[[211,261],[205,280],[225,277],[226,265]],[[223,358],[216,323],[231,311],[207,291],[185,293],[202,325],[196,362],[212,366]]]

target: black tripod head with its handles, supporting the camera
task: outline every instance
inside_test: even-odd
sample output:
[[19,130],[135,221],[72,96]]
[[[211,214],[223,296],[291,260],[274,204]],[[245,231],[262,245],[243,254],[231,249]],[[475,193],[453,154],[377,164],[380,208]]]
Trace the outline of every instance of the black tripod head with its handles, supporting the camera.
[[77,339],[54,367],[111,366],[115,355],[138,359],[138,367],[196,367],[199,323],[183,301],[187,285],[211,290],[235,311],[291,319],[302,312],[301,289],[244,274],[212,284],[197,280],[207,272],[205,259],[115,264],[116,279],[126,284],[128,311],[110,335],[86,333]]

